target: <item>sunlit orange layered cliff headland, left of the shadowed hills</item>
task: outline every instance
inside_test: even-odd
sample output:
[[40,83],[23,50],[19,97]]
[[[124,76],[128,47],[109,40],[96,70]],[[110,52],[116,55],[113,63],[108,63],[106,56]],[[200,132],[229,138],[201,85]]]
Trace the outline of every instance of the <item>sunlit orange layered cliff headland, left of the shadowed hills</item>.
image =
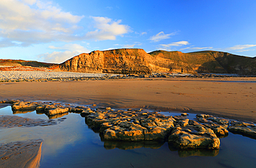
[[151,74],[143,49],[94,51],[60,64],[60,70],[71,72],[103,72],[113,74]]

